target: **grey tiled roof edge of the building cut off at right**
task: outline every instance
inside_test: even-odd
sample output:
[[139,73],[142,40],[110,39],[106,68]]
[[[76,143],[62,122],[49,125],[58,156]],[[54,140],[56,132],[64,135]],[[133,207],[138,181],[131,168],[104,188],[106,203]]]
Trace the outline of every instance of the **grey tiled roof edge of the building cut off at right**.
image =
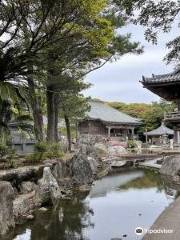
[[170,83],[170,82],[180,82],[180,68],[172,73],[163,75],[152,75],[151,78],[143,76],[143,84],[153,84],[153,83]]

